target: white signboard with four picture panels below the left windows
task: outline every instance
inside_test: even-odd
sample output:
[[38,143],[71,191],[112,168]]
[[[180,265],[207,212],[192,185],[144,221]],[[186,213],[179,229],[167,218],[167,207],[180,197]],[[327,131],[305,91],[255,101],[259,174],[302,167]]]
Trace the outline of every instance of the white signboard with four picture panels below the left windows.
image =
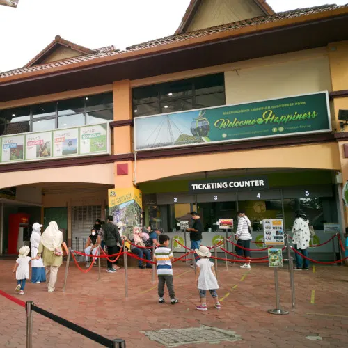
[[0,137],[0,164],[62,157],[107,155],[109,123]]

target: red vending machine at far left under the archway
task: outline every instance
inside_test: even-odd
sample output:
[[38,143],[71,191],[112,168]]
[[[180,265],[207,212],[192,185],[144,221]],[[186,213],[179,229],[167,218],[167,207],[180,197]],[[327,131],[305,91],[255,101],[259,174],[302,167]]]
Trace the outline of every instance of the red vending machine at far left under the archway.
[[19,248],[29,246],[29,214],[10,214],[8,221],[8,253],[17,254]]

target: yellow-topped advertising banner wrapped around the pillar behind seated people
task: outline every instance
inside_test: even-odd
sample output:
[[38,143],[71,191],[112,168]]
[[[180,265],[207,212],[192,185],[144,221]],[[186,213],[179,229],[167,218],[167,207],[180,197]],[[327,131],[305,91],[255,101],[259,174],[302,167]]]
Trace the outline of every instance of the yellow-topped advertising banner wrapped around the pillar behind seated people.
[[124,235],[132,239],[133,228],[141,227],[143,198],[141,191],[135,187],[127,189],[109,189],[109,215],[113,216],[113,223],[122,221],[125,226]]

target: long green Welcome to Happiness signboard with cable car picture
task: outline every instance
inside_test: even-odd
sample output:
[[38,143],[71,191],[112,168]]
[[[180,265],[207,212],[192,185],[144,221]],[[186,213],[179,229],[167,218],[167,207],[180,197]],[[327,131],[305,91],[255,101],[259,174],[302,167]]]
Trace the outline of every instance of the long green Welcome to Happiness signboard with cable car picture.
[[136,151],[321,132],[331,132],[327,92],[134,118]]

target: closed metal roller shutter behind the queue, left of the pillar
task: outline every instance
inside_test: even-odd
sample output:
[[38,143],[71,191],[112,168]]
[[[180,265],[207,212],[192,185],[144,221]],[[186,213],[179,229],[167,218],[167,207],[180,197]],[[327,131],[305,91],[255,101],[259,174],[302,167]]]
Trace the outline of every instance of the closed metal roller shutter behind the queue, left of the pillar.
[[102,216],[101,205],[72,207],[72,249],[84,251],[86,240],[90,235],[95,220]]

